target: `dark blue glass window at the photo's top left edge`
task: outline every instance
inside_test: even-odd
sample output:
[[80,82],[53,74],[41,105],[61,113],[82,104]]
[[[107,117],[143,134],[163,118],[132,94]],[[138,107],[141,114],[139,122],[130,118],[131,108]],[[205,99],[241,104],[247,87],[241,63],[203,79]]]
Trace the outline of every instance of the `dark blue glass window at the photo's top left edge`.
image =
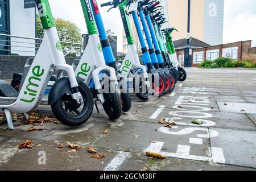
[[[0,34],[10,34],[10,11],[9,0],[0,0]],[[0,36],[0,54],[7,55],[9,52],[8,42],[10,39],[6,36]]]

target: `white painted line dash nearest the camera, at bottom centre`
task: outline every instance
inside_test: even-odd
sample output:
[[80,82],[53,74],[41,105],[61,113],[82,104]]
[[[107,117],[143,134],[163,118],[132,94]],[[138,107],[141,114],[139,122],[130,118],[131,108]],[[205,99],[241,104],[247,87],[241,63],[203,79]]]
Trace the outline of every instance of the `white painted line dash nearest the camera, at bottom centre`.
[[117,169],[121,166],[125,159],[131,155],[130,152],[119,152],[117,156],[105,167],[104,171],[117,171]]

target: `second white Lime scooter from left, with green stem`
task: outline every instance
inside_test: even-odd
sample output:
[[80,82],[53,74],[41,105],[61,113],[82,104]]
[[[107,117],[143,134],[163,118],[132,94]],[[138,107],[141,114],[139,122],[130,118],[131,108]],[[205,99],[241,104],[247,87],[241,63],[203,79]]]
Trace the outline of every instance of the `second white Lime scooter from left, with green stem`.
[[75,74],[81,77],[92,90],[94,98],[97,99],[94,102],[97,111],[97,101],[100,101],[109,118],[111,120],[118,119],[122,113],[122,105],[115,69],[105,63],[89,0],[81,0],[81,6],[89,40],[79,63],[73,62],[73,67],[76,67]]

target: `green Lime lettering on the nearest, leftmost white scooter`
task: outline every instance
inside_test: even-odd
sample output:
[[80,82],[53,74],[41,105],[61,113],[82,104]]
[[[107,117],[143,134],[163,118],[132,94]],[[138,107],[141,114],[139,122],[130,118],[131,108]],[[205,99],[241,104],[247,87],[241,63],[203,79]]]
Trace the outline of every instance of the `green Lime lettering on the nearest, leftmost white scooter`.
[[36,94],[38,93],[38,82],[41,81],[41,78],[44,75],[44,69],[40,69],[40,66],[36,65],[32,68],[33,76],[28,78],[28,84],[26,86],[26,90],[24,92],[25,95],[31,96],[30,99],[26,100],[24,98],[20,98],[20,101],[31,103],[35,101]]

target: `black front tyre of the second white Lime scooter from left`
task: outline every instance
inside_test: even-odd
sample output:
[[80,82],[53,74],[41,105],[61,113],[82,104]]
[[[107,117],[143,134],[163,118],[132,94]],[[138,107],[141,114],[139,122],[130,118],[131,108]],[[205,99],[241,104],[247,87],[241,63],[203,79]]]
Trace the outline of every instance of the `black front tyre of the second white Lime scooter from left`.
[[[111,86],[111,84],[109,84]],[[109,89],[110,90],[110,89]],[[118,90],[115,86],[115,90]],[[106,114],[110,120],[115,120],[121,117],[122,114],[122,104],[121,97],[119,93],[103,93],[105,102],[103,105]]]

